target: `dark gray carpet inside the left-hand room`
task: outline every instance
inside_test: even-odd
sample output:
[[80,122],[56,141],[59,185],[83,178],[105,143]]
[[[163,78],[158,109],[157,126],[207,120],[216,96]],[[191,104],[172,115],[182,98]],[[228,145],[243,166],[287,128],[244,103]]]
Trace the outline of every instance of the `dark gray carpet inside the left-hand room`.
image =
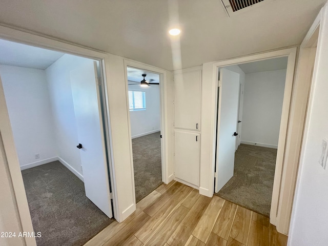
[[59,161],[22,171],[38,246],[83,245],[114,219],[86,196],[84,183]]

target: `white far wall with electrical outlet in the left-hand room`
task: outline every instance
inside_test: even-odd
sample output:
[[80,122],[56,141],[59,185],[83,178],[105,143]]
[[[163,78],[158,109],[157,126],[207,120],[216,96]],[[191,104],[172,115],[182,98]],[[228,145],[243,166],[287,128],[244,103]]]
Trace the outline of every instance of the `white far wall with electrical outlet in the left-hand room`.
[[52,161],[57,153],[45,71],[0,65],[0,75],[19,165],[26,169]]

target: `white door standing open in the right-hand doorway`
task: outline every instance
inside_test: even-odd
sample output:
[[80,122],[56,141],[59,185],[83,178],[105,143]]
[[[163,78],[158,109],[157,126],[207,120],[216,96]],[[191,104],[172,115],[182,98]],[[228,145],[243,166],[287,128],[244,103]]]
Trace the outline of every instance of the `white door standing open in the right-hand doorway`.
[[234,175],[239,73],[220,69],[215,192]]

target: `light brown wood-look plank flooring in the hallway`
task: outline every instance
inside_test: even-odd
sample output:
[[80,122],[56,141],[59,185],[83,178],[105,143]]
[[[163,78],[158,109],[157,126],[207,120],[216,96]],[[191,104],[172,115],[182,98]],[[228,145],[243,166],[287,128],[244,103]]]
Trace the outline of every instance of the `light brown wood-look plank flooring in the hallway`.
[[111,223],[88,241],[94,245],[285,246],[287,236],[269,218],[218,196],[172,181],[137,203],[122,223]]

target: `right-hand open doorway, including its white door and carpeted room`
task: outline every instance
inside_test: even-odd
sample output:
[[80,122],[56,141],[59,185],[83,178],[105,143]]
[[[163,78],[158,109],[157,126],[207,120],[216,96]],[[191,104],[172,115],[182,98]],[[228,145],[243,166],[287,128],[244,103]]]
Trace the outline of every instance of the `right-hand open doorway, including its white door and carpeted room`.
[[215,194],[267,217],[287,63],[287,57],[278,57],[219,71]]

